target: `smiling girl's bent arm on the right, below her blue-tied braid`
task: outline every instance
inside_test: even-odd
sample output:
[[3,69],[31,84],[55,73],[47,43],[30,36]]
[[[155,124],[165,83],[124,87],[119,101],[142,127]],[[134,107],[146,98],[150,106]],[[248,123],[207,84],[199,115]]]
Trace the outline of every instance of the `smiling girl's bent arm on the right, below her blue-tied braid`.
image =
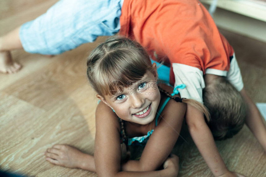
[[[172,91],[172,88],[170,89]],[[122,170],[153,171],[158,169],[171,153],[177,141],[185,112],[186,104],[170,99],[164,108],[159,125],[153,131],[143,150],[140,160],[128,161],[122,165]]]

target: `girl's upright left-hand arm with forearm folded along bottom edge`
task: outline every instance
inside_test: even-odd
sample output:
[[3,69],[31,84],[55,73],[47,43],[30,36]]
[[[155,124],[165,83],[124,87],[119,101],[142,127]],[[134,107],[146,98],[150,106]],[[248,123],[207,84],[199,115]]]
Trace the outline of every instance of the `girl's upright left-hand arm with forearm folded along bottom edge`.
[[[107,109],[107,111],[112,112],[112,110],[110,109]],[[110,114],[109,112],[107,114],[105,113],[105,107],[99,105],[96,111],[96,137],[94,152],[95,167],[98,176],[156,177],[177,175],[177,170],[175,170],[171,166],[166,167],[164,170],[161,171],[121,171],[121,146],[119,134],[120,125],[116,116],[105,116]],[[165,160],[166,158],[164,159],[164,161]]]

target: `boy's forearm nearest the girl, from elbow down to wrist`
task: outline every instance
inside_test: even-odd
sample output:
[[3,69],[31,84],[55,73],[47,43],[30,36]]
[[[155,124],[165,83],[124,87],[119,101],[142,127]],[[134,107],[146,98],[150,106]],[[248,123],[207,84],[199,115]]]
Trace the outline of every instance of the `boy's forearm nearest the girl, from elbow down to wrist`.
[[214,176],[225,174],[228,169],[217,150],[212,133],[206,123],[189,127],[189,132],[212,174]]

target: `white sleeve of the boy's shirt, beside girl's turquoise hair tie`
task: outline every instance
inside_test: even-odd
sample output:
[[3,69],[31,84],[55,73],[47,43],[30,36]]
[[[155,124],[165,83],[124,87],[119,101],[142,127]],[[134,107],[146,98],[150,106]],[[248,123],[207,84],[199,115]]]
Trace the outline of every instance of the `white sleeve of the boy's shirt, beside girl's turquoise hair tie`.
[[178,89],[181,98],[191,98],[203,103],[202,89],[205,88],[203,72],[199,68],[179,63],[173,63],[172,67],[175,77],[174,86],[186,85],[184,89]]

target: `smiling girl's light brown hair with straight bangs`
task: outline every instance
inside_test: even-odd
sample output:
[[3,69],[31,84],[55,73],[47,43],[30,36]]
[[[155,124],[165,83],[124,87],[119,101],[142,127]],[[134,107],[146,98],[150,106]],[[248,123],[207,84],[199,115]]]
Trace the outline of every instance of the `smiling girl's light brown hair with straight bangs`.
[[[122,92],[140,80],[147,71],[154,73],[145,49],[122,36],[112,36],[96,47],[87,60],[87,75],[94,90],[101,96]],[[118,96],[118,95],[117,95]]]

